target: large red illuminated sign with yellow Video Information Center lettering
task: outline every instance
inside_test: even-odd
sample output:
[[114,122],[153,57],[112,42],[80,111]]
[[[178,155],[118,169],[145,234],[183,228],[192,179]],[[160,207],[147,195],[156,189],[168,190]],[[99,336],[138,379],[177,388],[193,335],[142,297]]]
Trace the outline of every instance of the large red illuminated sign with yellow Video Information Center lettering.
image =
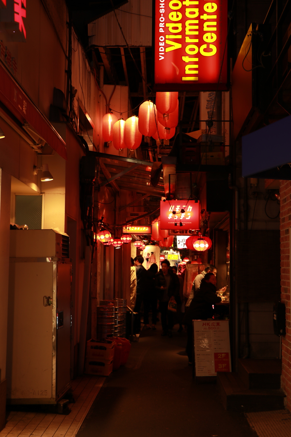
[[226,0],[155,0],[155,89],[226,90],[226,38]]

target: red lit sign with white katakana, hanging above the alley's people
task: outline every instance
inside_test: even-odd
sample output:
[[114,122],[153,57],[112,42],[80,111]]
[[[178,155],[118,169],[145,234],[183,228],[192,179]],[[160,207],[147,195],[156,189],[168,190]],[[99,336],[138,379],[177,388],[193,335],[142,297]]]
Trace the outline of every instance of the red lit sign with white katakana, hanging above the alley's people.
[[[161,201],[161,229],[200,229],[200,203],[194,200]],[[180,222],[182,227],[180,227]],[[175,225],[176,223],[176,225]]]

